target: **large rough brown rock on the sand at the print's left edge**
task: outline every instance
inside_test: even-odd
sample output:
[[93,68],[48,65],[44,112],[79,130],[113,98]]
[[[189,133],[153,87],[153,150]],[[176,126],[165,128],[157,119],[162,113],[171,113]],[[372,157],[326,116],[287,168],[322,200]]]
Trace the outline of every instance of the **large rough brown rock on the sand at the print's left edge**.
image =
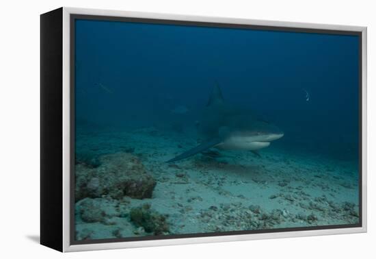
[[109,195],[113,199],[129,196],[135,199],[152,197],[156,182],[144,165],[131,153],[115,153],[99,158],[100,166],[86,164],[75,167],[75,200]]

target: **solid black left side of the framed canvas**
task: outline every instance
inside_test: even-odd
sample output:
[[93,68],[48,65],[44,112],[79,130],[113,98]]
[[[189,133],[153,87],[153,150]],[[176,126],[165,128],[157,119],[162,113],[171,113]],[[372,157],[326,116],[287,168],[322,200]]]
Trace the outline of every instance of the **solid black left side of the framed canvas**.
[[63,8],[40,15],[40,244],[63,251]]

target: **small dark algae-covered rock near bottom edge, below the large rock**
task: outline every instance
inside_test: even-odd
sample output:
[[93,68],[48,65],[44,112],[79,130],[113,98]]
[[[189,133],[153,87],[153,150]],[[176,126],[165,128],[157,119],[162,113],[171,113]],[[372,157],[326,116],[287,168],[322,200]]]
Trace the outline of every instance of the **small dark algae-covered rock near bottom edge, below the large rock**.
[[165,216],[150,208],[150,204],[144,204],[131,209],[131,221],[137,227],[144,227],[145,232],[155,235],[165,234],[170,231]]

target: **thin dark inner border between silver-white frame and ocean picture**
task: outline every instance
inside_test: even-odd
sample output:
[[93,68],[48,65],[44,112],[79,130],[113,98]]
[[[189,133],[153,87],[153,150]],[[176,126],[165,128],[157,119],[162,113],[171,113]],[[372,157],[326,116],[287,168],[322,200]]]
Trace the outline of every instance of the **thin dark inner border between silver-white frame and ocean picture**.
[[[286,227],[268,230],[239,230],[231,232],[208,232],[195,234],[172,234],[166,236],[139,236],[127,238],[103,238],[94,240],[75,240],[75,21],[76,20],[92,20],[92,21],[114,21],[128,23],[151,23],[159,25],[182,25],[196,27],[218,27],[233,29],[254,29],[272,32],[299,32],[308,34],[334,34],[334,35],[351,35],[358,36],[358,124],[359,124],[359,146],[358,146],[358,198],[359,198],[359,222],[356,224],[344,225],[322,225],[312,227]],[[142,240],[163,240],[176,238],[201,238],[210,236],[233,236],[243,234],[263,234],[278,232],[296,232],[307,230],[334,230],[351,227],[362,227],[363,204],[362,204],[362,32],[340,30],[340,29],[310,29],[301,27],[283,27],[271,25],[245,25],[236,23],[212,23],[202,21],[180,21],[167,20],[158,18],[134,18],[123,16],[100,16],[91,14],[70,14],[70,245],[86,245],[98,243],[124,243]]]

